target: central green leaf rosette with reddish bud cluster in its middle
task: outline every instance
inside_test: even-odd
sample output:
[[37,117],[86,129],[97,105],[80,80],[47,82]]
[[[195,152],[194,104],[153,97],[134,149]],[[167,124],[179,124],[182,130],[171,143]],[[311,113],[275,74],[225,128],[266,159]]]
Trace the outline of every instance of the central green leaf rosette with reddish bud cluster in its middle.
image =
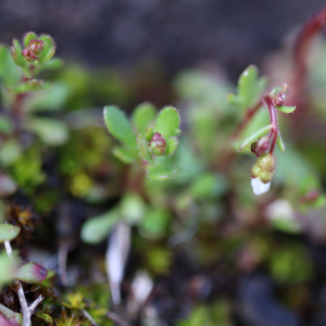
[[143,162],[147,176],[152,180],[174,178],[179,167],[173,166],[170,158],[174,154],[181,131],[180,116],[173,106],[166,106],[156,115],[151,103],[138,105],[129,122],[116,106],[104,108],[104,122],[110,134],[122,146],[113,154],[126,164]]

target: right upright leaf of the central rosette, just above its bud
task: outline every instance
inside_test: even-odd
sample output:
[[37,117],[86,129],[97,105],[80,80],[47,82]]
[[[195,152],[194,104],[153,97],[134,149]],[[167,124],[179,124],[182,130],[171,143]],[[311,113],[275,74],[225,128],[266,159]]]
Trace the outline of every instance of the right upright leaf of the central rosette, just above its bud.
[[165,106],[159,113],[155,122],[155,133],[160,133],[165,139],[180,134],[180,115],[173,106]]

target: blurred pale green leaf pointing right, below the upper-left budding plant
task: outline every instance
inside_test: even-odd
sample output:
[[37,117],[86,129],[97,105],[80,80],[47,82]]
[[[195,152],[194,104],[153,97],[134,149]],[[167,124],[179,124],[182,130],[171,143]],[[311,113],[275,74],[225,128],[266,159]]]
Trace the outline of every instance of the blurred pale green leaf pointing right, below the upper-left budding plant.
[[68,138],[67,126],[57,118],[33,117],[27,124],[27,129],[37,134],[47,145],[63,145]]

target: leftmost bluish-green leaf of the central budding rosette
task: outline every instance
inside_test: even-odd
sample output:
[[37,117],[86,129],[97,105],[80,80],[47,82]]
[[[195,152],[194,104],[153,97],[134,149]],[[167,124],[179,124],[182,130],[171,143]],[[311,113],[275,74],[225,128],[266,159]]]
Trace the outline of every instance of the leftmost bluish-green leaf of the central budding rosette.
[[136,136],[126,115],[116,106],[104,106],[104,122],[110,134],[131,150],[136,148]]

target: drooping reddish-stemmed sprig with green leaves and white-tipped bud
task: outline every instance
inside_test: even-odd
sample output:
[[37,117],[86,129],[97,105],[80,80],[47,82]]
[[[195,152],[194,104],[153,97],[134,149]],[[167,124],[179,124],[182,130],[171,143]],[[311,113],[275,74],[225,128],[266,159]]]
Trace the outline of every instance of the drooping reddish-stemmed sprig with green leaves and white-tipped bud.
[[[260,100],[264,88],[265,79],[258,78],[258,70],[254,66],[250,66],[239,78],[238,93],[228,96],[230,104],[238,106],[242,111],[249,110],[244,120],[239,124],[236,135],[242,130],[263,104],[266,104],[269,111],[271,124],[252,133],[241,140],[239,146],[239,151],[250,146],[251,151],[259,158],[251,168],[251,185],[255,195],[262,195],[268,191],[271,187],[277,165],[275,159],[276,143],[280,151],[285,153],[285,145],[278,128],[276,110],[287,114],[296,110],[296,106],[284,105],[286,93],[288,92],[287,85],[274,88],[269,95],[264,96]],[[268,135],[265,136],[266,134]]]

